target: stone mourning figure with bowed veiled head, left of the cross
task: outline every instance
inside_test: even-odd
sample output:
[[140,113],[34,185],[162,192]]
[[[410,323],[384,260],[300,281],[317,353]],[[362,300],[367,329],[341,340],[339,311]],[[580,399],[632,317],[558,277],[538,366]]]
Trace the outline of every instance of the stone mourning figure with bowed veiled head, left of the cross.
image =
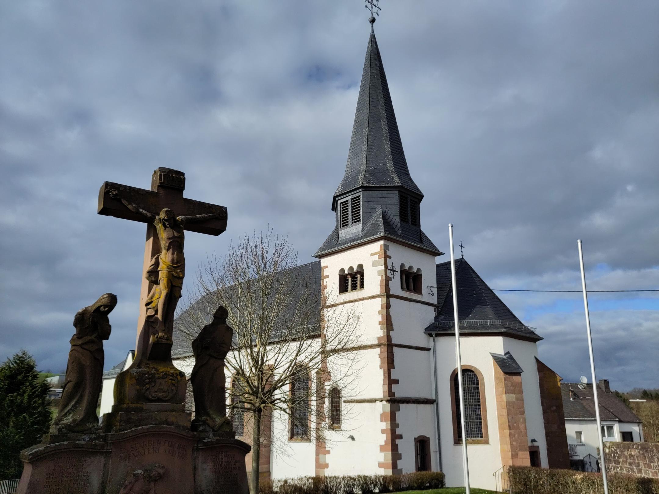
[[98,428],[96,404],[103,381],[103,340],[110,337],[108,314],[117,305],[117,296],[106,293],[94,304],[78,310],[73,319],[76,333],[71,338],[67,373],[53,422],[70,432],[89,432]]

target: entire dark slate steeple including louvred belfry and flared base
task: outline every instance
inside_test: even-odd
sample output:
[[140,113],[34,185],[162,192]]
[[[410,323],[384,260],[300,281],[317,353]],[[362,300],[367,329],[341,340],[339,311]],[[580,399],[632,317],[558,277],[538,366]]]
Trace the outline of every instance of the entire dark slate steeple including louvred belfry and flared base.
[[442,252],[420,228],[423,194],[407,168],[373,29],[375,18],[371,16],[369,22],[348,161],[332,200],[336,225],[315,256],[320,258],[380,237],[439,256]]

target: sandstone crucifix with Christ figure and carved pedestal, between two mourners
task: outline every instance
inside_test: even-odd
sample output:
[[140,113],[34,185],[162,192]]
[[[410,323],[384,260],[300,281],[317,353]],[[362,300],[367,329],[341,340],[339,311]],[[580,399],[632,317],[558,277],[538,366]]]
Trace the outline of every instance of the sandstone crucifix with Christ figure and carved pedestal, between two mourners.
[[185,174],[159,168],[151,190],[105,182],[99,192],[99,214],[147,223],[135,359],[117,376],[115,405],[103,418],[106,431],[152,424],[154,418],[189,424],[185,375],[171,361],[174,313],[185,277],[185,231],[223,233],[227,208],[184,198],[184,189]]

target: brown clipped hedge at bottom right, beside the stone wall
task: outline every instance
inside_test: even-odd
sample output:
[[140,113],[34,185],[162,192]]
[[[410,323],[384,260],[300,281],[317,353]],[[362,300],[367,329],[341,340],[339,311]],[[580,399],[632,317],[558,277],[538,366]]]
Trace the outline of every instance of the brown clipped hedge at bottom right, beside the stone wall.
[[[610,494],[659,494],[659,479],[608,474]],[[511,494],[600,494],[602,474],[511,466],[508,469]]]

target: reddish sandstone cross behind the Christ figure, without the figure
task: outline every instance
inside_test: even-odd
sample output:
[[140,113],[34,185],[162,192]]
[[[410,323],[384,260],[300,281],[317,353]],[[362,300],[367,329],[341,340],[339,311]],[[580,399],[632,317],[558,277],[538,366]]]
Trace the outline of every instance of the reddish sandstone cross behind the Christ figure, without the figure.
[[[158,266],[154,268],[152,263],[154,256],[161,252],[161,240],[159,240],[158,231],[154,225],[154,217],[157,219],[159,213],[163,209],[167,209],[171,210],[170,212],[173,211],[175,217],[189,219],[189,221],[182,223],[182,229],[186,231],[219,235],[227,228],[226,207],[184,198],[184,189],[185,174],[183,172],[169,168],[158,168],[152,176],[151,190],[104,182],[99,192],[98,214],[148,223],[146,227],[146,245],[144,246],[144,269],[142,270],[140,317],[137,325],[135,360],[142,360],[146,357],[146,352],[149,351],[152,335],[146,334],[148,331],[144,331],[144,328],[147,327],[145,325],[147,317],[146,303],[152,298],[150,294],[153,294],[153,283],[158,284],[159,273],[156,270],[162,270]],[[193,222],[192,219],[195,221]],[[182,233],[181,231],[181,236]],[[183,238],[181,238],[181,244],[183,244]],[[182,256],[183,251],[181,249]],[[149,277],[148,271],[150,269],[156,273],[155,279],[153,275]],[[179,286],[177,287],[179,294],[182,282],[183,272],[181,272]],[[158,314],[158,317],[163,321],[163,314]],[[162,335],[166,339],[166,335],[164,333]],[[169,338],[171,338],[171,335],[169,335]],[[169,350],[171,350],[171,343],[167,345],[167,348],[168,350],[165,353],[169,353]],[[167,355],[165,354],[163,357],[166,359]]]

